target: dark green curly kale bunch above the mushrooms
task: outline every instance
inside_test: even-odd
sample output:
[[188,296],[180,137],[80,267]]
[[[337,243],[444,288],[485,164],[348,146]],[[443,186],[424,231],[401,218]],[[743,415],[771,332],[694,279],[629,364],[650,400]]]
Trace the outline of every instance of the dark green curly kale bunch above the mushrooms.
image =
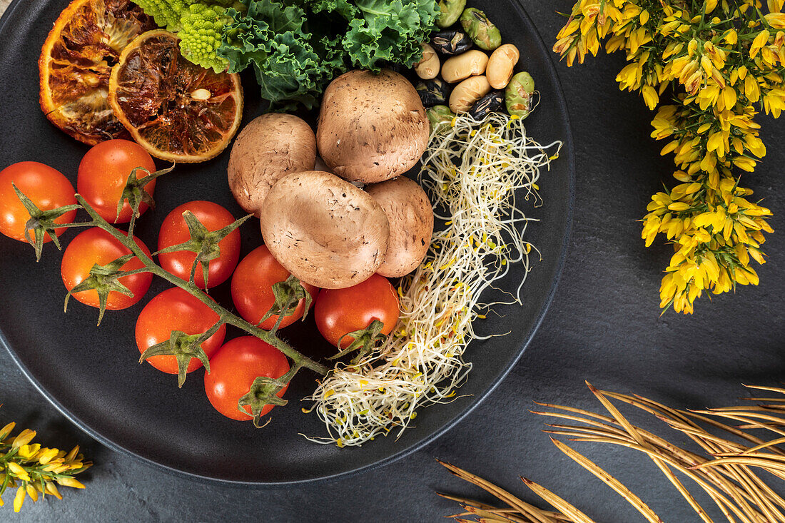
[[[188,0],[184,0],[188,1]],[[229,71],[254,66],[261,96],[281,110],[314,108],[350,65],[379,71],[411,66],[433,30],[436,0],[243,0],[227,9],[218,57]]]

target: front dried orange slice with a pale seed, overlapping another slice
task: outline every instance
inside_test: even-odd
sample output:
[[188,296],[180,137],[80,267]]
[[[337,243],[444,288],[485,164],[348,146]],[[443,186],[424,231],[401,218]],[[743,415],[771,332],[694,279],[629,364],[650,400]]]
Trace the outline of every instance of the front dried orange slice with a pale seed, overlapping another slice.
[[137,36],[111,71],[109,103],[147,151],[170,162],[203,162],[232,140],[243,117],[239,75],[215,73],[180,53],[162,29]]

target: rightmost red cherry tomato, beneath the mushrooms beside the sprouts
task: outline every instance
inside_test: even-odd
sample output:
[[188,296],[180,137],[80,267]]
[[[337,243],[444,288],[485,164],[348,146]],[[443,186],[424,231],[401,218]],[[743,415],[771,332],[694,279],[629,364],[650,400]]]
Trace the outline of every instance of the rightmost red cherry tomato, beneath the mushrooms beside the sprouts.
[[[398,294],[384,276],[374,274],[363,283],[345,289],[322,289],[316,298],[316,327],[332,346],[350,332],[367,328],[374,320],[384,324],[382,334],[389,335],[398,323]],[[347,336],[341,349],[354,338]]]

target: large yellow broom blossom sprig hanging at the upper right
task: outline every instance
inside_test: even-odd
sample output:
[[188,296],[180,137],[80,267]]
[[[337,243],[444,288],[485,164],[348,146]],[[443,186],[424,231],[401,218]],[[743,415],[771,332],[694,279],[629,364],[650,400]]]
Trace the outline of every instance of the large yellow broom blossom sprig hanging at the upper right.
[[608,53],[626,55],[619,89],[656,109],[652,137],[666,141],[679,182],[642,219],[646,247],[660,235],[674,247],[663,312],[692,313],[704,294],[759,283],[750,263],[765,263],[772,213],[739,181],[766,154],[755,117],[785,110],[785,0],[765,3],[768,12],[758,0],[582,0],[553,46],[571,66],[606,38]]

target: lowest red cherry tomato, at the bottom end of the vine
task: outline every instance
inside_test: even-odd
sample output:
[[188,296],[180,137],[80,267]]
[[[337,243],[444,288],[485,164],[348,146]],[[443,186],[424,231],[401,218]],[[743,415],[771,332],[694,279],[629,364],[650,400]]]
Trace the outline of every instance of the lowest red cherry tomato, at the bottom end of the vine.
[[[254,419],[250,407],[243,414],[237,408],[239,399],[248,393],[259,376],[280,378],[289,371],[289,360],[281,351],[254,336],[243,336],[227,342],[210,360],[210,372],[204,373],[204,390],[215,410],[227,418],[247,421]],[[283,397],[287,386],[277,395]],[[261,415],[272,410],[267,405]]]

